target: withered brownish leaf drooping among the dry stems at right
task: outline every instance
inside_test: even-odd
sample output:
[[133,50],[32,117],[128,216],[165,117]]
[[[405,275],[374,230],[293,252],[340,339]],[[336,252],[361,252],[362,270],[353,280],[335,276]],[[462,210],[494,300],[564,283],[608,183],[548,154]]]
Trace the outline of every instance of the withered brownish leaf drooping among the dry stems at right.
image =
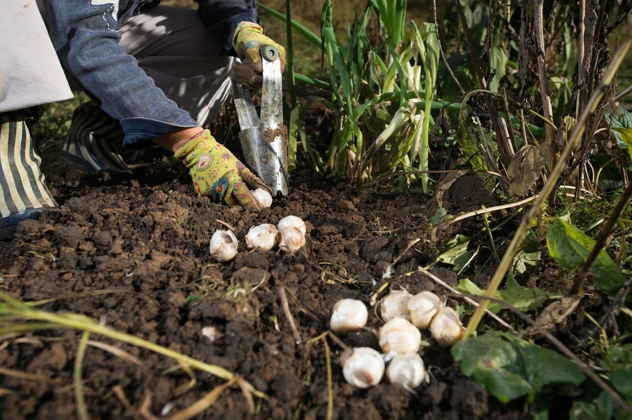
[[509,195],[514,197],[525,195],[540,177],[540,172],[548,160],[549,147],[547,145],[526,145],[518,150],[507,167],[507,175],[511,178]]

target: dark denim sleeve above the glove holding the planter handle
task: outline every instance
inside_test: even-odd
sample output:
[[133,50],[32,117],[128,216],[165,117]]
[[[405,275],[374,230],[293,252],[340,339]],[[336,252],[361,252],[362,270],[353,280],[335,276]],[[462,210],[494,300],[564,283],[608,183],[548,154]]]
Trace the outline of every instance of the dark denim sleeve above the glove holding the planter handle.
[[261,25],[257,15],[256,0],[195,0],[198,12],[209,29],[222,41],[222,54],[236,56],[233,49],[233,33],[240,22]]

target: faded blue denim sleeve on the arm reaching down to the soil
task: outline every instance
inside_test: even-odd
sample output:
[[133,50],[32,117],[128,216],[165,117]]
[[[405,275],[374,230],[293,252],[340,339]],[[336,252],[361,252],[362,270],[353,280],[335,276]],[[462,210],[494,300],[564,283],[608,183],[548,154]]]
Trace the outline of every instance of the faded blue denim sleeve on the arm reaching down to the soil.
[[46,20],[63,68],[121,122],[125,147],[143,148],[154,137],[199,124],[118,45],[118,12],[125,3],[131,1],[47,1]]

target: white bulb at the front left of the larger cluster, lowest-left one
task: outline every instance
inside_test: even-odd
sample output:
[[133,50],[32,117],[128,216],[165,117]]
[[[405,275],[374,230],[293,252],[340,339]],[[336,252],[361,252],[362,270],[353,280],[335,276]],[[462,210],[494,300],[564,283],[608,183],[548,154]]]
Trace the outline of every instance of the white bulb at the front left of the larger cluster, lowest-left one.
[[344,380],[356,388],[377,385],[384,375],[384,360],[370,347],[356,347],[341,357]]

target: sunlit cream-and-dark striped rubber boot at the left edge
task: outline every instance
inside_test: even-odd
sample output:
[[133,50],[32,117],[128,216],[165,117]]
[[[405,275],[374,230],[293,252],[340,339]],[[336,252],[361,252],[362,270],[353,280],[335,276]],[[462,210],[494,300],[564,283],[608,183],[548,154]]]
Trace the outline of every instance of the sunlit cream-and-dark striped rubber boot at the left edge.
[[43,208],[58,207],[26,123],[33,110],[22,111],[0,114],[0,239],[13,237],[22,220],[39,219]]

